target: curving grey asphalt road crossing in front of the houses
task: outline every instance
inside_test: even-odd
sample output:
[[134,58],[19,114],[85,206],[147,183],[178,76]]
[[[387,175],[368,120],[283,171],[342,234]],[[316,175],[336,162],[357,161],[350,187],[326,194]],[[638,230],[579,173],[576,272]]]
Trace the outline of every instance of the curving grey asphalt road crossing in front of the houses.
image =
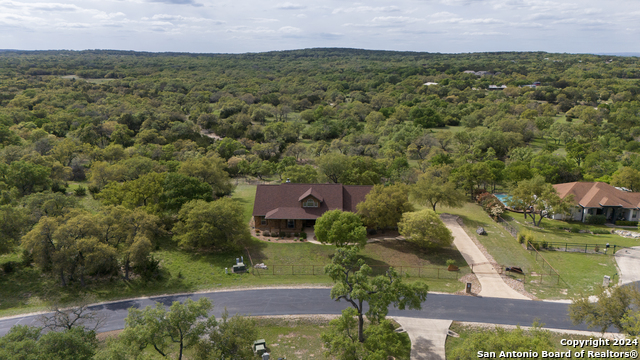
[[[194,300],[209,298],[214,304],[213,314],[217,317],[225,307],[230,314],[245,315],[340,314],[348,307],[344,301],[331,300],[329,294],[330,289],[238,290],[119,301],[96,305],[92,309],[108,319],[100,330],[110,331],[124,327],[124,318],[130,307],[144,308],[155,302],[168,306],[174,301],[184,301],[187,297]],[[429,294],[422,310],[390,309],[389,315],[523,326],[531,325],[538,318],[548,328],[587,330],[584,325],[574,326],[567,311],[567,304],[553,302]],[[37,316],[0,319],[0,336],[16,324],[37,325]]]

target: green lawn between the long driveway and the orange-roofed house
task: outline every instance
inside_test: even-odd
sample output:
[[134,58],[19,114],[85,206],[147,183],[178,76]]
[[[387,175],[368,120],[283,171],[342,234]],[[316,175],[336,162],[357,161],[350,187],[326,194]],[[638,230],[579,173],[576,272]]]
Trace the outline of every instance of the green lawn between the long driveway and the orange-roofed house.
[[[502,266],[519,266],[526,274],[535,272],[537,274],[547,274],[542,266],[542,260],[536,260],[535,252],[524,249],[504,228],[491,218],[480,208],[480,206],[467,203],[463,208],[451,209],[441,208],[440,212],[448,212],[459,215],[466,226],[467,233],[475,236],[477,226],[483,226],[487,230],[487,236],[476,236],[485,246],[487,251]],[[544,219],[543,229],[536,229],[523,224],[522,215],[509,213],[504,218],[509,220],[513,226],[520,230],[530,230],[537,240],[564,241],[572,243],[589,244],[617,244],[619,246],[638,245],[634,239],[626,239],[621,236],[604,234],[591,235],[585,233],[570,233],[559,230],[558,227],[572,226],[564,222]],[[587,225],[576,225],[587,228],[597,228]],[[545,251],[540,253],[560,273],[561,281],[558,284],[557,278],[527,276],[525,289],[542,299],[561,299],[573,295],[591,294],[594,288],[602,284],[604,275],[609,275],[614,281],[617,272],[615,259],[611,255],[604,254],[583,254],[560,251]]]

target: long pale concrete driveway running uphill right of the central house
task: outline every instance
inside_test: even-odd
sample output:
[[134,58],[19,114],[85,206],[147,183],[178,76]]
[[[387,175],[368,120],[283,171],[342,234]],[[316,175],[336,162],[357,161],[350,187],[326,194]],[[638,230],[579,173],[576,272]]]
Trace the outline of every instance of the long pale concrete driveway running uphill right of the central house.
[[443,214],[440,218],[453,233],[453,244],[458,248],[467,264],[473,264],[473,272],[482,286],[479,296],[530,300],[505,284],[498,271],[493,268],[487,257],[478,249],[476,243],[471,240],[462,226],[458,224],[457,216]]

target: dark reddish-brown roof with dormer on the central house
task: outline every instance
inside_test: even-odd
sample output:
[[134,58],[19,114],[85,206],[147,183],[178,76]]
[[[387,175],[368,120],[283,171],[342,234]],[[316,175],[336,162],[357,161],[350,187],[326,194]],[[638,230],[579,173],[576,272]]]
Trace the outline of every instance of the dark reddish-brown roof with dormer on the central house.
[[[370,185],[292,184],[258,185],[253,216],[267,219],[317,219],[325,211],[356,212],[356,205],[371,191]],[[321,200],[317,208],[302,207],[309,195]]]

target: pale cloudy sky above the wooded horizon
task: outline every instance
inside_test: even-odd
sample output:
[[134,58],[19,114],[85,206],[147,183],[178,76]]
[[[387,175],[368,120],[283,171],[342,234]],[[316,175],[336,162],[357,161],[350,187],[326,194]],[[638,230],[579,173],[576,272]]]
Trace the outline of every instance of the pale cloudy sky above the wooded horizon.
[[639,0],[0,0],[0,49],[640,52]]

